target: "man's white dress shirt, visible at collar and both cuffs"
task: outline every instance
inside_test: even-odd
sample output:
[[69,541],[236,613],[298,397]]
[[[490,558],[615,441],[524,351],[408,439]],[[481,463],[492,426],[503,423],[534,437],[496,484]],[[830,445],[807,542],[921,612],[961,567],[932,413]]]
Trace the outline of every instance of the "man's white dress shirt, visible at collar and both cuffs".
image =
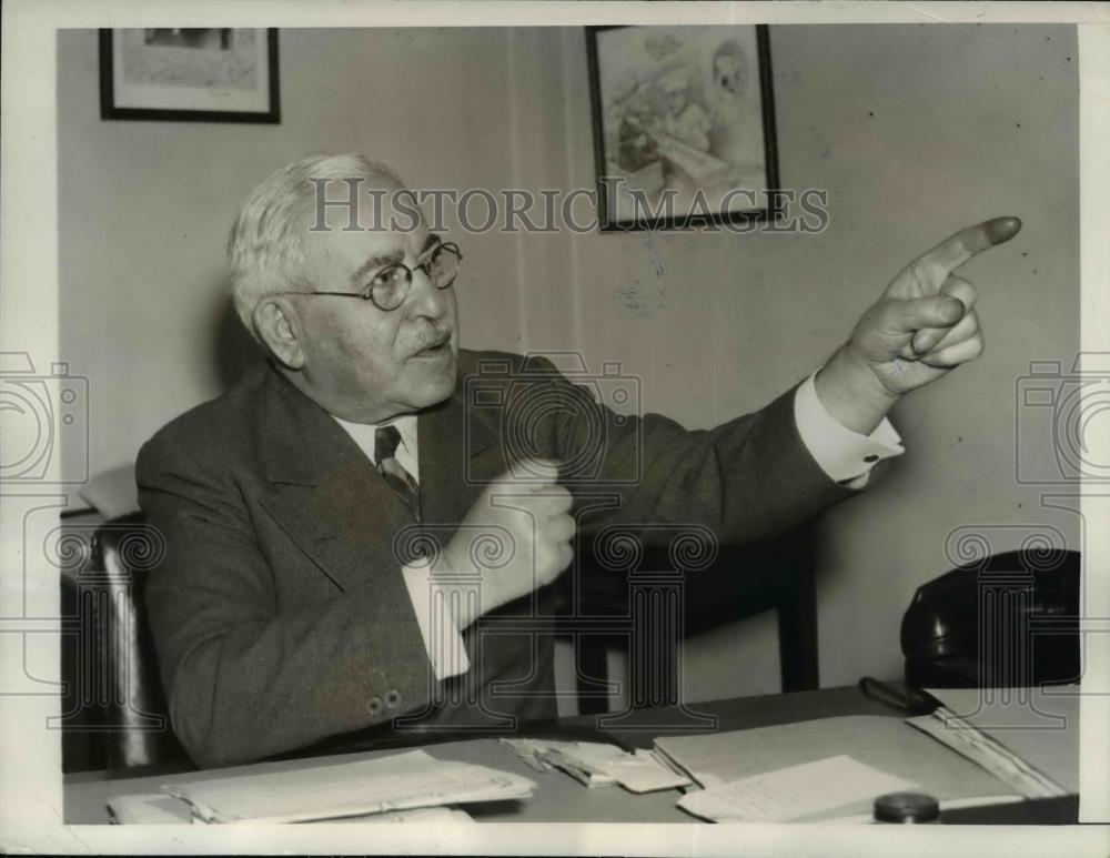
[[[905,452],[901,437],[886,418],[870,435],[860,435],[841,425],[821,405],[814,384],[816,375],[814,373],[803,382],[794,397],[794,421],[798,434],[814,461],[830,480],[848,488],[864,488],[876,464]],[[389,424],[396,426],[401,433],[401,444],[397,445],[394,457],[420,483],[415,414],[405,414],[385,423],[349,423],[339,417],[335,421],[346,430],[371,462],[376,462],[374,434],[377,428]],[[426,565],[410,564],[402,568],[402,575],[436,679],[468,670],[471,663],[466,647],[451,613],[441,609],[435,612],[433,618],[434,582],[431,569]]]

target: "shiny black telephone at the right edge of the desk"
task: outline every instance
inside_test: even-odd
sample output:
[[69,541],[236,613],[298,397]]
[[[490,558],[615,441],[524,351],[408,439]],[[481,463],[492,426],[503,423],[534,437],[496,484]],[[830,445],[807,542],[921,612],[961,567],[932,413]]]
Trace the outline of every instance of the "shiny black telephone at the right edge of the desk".
[[1080,555],[1007,552],[918,588],[901,624],[910,688],[1078,682]]

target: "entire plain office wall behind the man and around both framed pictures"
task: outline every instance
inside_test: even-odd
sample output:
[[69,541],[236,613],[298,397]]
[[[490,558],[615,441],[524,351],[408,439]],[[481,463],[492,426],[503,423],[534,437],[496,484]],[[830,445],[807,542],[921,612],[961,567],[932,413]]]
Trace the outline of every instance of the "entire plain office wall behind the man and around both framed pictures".
[[[281,39],[282,123],[250,127],[102,122],[95,36],[60,37],[62,342],[90,376],[93,472],[133,458],[242,363],[228,345],[224,235],[280,164],[354,149],[420,188],[594,182],[581,30]],[[988,354],[898,406],[907,455],[825,519],[823,684],[895,677],[901,610],[952,565],[955,527],[1046,522],[1076,542],[1076,522],[1041,509],[1013,465],[1016,381],[1030,360],[1070,364],[1078,347],[1074,33],[778,27],[771,55],[783,182],[828,189],[825,233],[466,235],[463,342],[618,360],[647,407],[708,426],[819,366],[914,255],[1020,215],[1023,232],[963,272],[981,287]],[[628,286],[649,312],[623,303]],[[690,698],[775,690],[774,635],[765,616],[692,642]]]

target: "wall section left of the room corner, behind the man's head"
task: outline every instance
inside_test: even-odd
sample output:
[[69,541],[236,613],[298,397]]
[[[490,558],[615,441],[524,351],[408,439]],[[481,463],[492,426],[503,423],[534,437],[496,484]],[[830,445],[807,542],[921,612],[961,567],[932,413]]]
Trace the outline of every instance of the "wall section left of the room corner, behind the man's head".
[[[61,325],[73,371],[91,376],[93,472],[133,461],[241,363],[239,343],[225,342],[235,327],[223,250],[239,202],[266,174],[309,151],[363,150],[414,186],[504,182],[514,151],[506,42],[496,31],[423,32],[421,73],[397,74],[415,55],[403,34],[284,32],[282,122],[245,125],[103,122],[95,33],[60,34]],[[519,299],[488,274],[504,253],[482,236],[467,242],[471,342],[515,342]]]

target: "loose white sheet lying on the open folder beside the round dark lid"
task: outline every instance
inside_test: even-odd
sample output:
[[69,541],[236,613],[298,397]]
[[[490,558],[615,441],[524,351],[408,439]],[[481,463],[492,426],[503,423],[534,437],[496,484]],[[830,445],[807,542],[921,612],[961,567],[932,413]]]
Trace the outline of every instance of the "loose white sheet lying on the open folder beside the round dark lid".
[[915,787],[908,780],[839,756],[687,793],[678,807],[715,822],[778,822]]

